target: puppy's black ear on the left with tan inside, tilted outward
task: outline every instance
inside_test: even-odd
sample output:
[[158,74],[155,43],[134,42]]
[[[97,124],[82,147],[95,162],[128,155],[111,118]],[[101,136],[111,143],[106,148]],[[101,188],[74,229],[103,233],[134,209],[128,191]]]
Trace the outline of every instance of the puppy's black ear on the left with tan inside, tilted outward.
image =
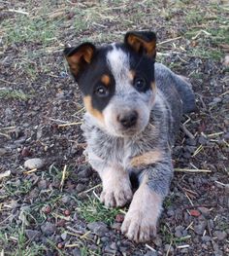
[[79,47],[65,48],[64,55],[76,80],[79,79],[84,68],[91,62],[95,50],[95,46],[91,43],[83,43]]

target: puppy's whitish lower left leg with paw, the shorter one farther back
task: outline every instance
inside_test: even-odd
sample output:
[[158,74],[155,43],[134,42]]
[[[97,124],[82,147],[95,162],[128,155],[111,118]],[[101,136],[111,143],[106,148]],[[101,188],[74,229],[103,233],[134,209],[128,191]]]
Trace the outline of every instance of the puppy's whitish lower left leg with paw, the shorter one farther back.
[[98,171],[103,182],[100,200],[108,207],[124,206],[133,197],[128,173],[120,166]]

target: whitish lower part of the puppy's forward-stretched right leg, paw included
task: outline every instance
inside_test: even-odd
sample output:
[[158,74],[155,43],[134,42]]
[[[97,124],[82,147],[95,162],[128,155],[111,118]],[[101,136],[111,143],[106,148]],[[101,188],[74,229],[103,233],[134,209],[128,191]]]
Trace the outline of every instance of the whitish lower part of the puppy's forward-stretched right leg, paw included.
[[157,220],[163,198],[151,191],[146,180],[134,194],[129,210],[121,226],[121,232],[136,242],[145,242],[156,236]]

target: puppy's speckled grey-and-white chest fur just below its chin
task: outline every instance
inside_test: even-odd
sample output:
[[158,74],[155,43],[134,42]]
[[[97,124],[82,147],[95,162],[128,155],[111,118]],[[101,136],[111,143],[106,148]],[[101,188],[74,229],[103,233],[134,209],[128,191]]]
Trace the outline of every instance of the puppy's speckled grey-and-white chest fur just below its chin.
[[150,126],[147,127],[146,132],[137,135],[136,138],[110,136],[102,129],[93,126],[87,117],[84,118],[82,130],[87,142],[88,155],[123,167],[128,166],[132,157],[156,147],[160,140],[158,132]]

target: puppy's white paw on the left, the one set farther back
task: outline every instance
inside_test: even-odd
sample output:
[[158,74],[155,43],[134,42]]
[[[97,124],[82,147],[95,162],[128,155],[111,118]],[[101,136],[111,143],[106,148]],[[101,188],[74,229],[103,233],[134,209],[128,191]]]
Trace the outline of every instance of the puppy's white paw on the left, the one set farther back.
[[100,201],[107,207],[124,206],[131,201],[133,192],[129,184],[110,183],[110,186],[104,187],[100,196]]

